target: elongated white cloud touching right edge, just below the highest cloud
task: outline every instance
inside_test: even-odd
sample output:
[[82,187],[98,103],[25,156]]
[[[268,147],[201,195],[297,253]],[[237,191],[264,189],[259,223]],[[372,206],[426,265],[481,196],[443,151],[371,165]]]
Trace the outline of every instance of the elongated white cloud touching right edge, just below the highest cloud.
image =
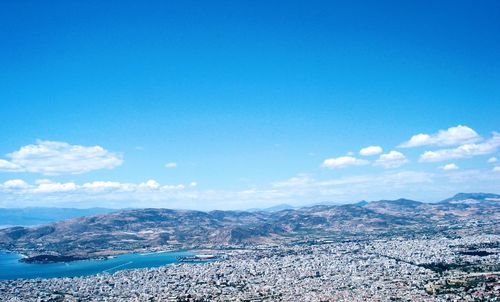
[[426,151],[420,155],[421,162],[438,162],[457,158],[470,158],[478,155],[496,152],[500,147],[500,134],[493,133],[493,137],[479,144],[465,144],[457,148]]

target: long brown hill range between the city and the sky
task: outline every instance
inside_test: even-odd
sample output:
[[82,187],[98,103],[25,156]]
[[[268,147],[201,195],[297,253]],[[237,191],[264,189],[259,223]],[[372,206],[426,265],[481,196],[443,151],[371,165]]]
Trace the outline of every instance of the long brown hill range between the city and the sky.
[[316,205],[281,211],[136,209],[0,230],[0,249],[94,257],[151,248],[223,248],[322,236],[410,232],[449,223],[496,221],[495,194],[457,194],[439,203],[408,199]]

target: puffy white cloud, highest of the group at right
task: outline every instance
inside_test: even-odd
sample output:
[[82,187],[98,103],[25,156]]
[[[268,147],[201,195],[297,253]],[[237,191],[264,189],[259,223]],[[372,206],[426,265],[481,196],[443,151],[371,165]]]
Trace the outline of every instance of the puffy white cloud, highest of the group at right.
[[448,128],[447,130],[439,130],[435,134],[420,133],[414,135],[410,140],[399,145],[401,148],[413,148],[427,145],[437,146],[456,146],[462,144],[471,144],[481,140],[479,134],[473,129],[458,125]]

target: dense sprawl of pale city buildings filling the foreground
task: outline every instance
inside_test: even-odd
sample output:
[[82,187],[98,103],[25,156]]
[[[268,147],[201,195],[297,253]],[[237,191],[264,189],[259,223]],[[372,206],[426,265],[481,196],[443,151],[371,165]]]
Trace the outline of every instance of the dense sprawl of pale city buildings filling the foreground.
[[498,235],[315,241],[218,251],[227,259],[203,264],[2,281],[0,296],[4,301],[498,301],[499,250]]

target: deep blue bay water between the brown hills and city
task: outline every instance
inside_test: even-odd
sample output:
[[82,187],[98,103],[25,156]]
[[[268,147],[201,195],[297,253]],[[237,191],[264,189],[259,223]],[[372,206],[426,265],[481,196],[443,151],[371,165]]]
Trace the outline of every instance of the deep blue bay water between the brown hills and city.
[[158,267],[177,263],[179,256],[192,252],[131,253],[107,260],[82,260],[65,263],[32,264],[20,262],[20,255],[0,252],[0,279],[78,277],[114,273],[123,269]]

